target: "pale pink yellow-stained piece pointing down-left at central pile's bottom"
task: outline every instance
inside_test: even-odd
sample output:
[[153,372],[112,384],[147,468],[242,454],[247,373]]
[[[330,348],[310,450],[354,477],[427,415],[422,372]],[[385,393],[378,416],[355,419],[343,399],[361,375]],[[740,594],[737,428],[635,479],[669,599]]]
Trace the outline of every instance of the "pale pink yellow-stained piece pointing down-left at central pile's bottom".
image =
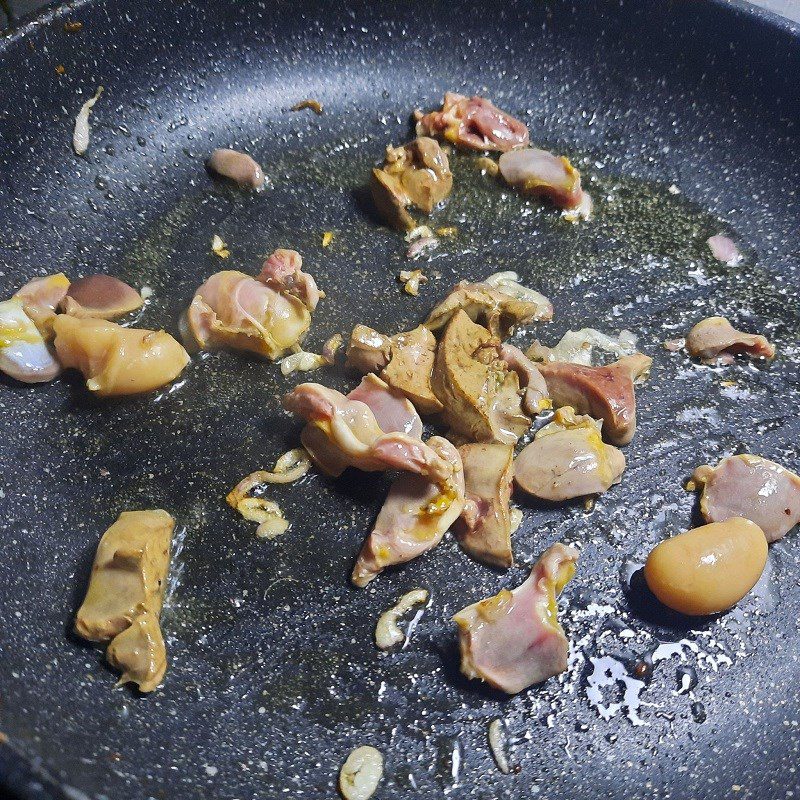
[[358,555],[351,579],[366,586],[386,567],[403,564],[431,550],[442,540],[464,506],[464,473],[456,448],[439,436],[427,446],[453,465],[446,486],[422,475],[397,478]]

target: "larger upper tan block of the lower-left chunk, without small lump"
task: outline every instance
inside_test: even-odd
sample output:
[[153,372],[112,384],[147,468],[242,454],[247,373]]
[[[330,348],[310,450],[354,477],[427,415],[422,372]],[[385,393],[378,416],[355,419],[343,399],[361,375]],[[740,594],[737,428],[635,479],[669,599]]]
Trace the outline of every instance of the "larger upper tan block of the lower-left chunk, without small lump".
[[89,588],[75,620],[79,636],[105,642],[143,609],[158,617],[174,528],[173,518],[161,509],[119,515],[97,546]]

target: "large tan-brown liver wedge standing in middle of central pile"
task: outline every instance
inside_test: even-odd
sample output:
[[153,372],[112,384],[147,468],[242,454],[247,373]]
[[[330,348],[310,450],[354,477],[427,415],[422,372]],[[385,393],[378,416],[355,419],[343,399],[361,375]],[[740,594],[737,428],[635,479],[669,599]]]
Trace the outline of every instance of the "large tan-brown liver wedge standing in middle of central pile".
[[514,444],[530,427],[519,378],[500,358],[500,340],[456,312],[436,351],[431,387],[444,421],[470,441]]

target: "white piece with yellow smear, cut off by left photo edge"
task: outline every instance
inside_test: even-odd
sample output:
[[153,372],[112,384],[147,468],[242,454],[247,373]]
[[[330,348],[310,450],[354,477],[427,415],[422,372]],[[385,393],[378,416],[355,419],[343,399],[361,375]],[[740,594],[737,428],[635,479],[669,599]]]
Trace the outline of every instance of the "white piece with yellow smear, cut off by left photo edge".
[[46,383],[61,372],[20,299],[0,303],[0,372],[22,383]]

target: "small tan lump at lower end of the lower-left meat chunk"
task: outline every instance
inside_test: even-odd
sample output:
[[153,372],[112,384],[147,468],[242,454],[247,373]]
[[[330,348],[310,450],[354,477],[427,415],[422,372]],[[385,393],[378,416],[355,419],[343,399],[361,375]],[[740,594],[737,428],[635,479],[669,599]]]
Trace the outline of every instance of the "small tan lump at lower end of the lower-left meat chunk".
[[158,615],[151,611],[138,614],[109,644],[106,660],[122,672],[117,686],[135,683],[140,692],[152,692],[167,671],[167,649]]

